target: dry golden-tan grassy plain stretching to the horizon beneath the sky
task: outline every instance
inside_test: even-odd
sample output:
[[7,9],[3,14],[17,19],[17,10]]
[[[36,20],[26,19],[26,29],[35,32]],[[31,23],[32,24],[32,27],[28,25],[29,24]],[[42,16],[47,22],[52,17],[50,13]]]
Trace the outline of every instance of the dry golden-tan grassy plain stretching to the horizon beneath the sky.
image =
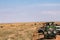
[[[56,22],[60,24],[60,22]],[[0,24],[0,40],[32,40],[33,34],[43,22],[28,23],[1,23]],[[56,40],[60,40],[58,35]]]

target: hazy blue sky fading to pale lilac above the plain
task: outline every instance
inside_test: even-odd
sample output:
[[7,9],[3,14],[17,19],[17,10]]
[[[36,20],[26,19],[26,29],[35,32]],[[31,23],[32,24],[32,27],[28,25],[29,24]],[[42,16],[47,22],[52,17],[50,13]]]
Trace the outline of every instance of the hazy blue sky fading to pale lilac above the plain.
[[60,21],[60,0],[0,0],[0,23]]

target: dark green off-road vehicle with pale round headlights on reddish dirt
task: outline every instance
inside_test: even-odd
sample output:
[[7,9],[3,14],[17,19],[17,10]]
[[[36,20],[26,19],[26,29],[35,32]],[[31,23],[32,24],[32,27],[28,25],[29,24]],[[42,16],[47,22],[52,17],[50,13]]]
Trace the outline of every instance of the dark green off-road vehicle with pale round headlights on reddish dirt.
[[54,22],[46,22],[45,26],[38,30],[38,33],[43,33],[46,39],[56,38],[56,25]]

